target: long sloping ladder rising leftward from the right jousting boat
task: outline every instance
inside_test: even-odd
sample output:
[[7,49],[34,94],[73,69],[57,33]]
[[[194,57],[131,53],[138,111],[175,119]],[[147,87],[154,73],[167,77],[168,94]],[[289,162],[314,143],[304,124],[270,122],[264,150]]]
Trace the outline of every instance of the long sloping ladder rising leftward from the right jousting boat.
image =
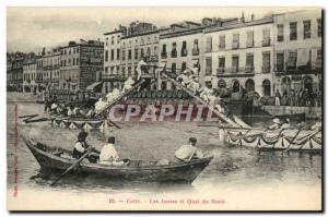
[[215,108],[212,108],[206,100],[203,100],[202,98],[200,98],[199,96],[196,96],[190,89],[188,89],[187,87],[183,86],[179,82],[175,81],[174,79],[169,77],[165,71],[163,71],[163,75],[172,83],[174,83],[176,86],[180,87],[181,89],[184,89],[185,92],[187,92],[191,97],[196,98],[198,101],[200,101],[202,105],[207,105],[208,108],[215,113],[219,118],[221,118],[222,120],[224,120],[225,122],[227,122],[229,124],[231,124],[234,128],[239,128],[239,125],[234,122],[233,120],[231,120],[230,118],[227,118],[226,116],[224,116],[223,113],[219,112],[218,110],[215,110]]

